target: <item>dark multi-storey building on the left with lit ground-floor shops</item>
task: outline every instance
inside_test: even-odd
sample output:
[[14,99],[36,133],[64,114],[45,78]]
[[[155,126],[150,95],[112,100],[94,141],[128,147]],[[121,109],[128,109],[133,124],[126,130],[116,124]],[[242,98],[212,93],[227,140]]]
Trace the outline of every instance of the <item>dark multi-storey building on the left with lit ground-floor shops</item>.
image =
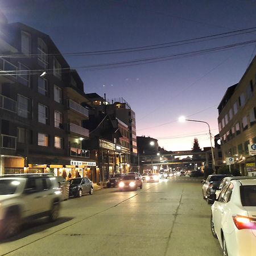
[[85,176],[96,161],[81,143],[89,139],[83,82],[48,35],[1,22],[0,174]]

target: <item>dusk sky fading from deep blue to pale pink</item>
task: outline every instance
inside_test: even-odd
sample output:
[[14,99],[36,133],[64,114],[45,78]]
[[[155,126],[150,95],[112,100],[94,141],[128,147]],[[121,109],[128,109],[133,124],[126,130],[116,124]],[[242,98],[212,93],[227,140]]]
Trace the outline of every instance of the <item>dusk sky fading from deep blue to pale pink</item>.
[[207,124],[178,118],[218,134],[218,104],[256,54],[255,0],[0,0],[0,9],[48,34],[85,93],[124,98],[137,136],[170,151],[195,137],[210,146]]

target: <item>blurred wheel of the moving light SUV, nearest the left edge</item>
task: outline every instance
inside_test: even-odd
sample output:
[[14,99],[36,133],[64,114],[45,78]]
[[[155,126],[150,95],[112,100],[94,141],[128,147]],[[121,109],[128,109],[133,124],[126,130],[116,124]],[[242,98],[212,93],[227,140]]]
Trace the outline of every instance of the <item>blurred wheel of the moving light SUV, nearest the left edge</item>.
[[1,229],[0,238],[13,237],[19,233],[20,221],[18,214],[10,214],[5,222],[3,222],[3,227]]

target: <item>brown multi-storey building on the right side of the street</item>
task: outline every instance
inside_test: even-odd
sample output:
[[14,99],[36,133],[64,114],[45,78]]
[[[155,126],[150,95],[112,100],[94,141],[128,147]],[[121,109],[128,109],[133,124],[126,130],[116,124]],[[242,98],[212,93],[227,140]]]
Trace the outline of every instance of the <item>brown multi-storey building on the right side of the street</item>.
[[256,56],[238,84],[226,90],[218,106],[223,160],[233,157],[242,175],[255,169],[248,144],[256,143]]

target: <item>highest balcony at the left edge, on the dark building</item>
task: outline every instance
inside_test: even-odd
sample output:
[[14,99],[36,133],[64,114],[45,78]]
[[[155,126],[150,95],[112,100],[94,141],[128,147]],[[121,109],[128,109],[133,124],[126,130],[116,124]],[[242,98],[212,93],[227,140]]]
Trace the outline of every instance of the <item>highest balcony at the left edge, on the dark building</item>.
[[18,68],[9,61],[0,58],[0,82],[14,83]]

